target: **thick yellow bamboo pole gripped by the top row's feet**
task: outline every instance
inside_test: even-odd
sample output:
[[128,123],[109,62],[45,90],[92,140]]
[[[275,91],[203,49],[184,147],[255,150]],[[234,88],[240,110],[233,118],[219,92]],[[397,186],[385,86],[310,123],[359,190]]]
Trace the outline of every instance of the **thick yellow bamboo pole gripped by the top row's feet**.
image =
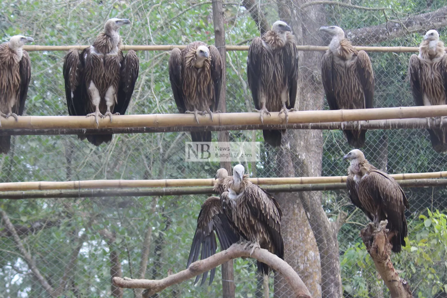
[[[382,119],[426,118],[447,116],[447,105],[375,108],[375,109],[340,109],[290,112],[289,123],[371,121]],[[97,128],[94,117],[84,116],[19,116],[1,118],[1,129],[72,129]],[[214,120],[210,115],[199,117],[199,124],[192,114],[145,114],[117,115],[113,122],[110,118],[99,118],[100,128],[123,127],[174,127],[174,126],[228,126],[228,125],[260,125],[259,113],[215,113]],[[264,124],[283,124],[284,114],[271,113],[264,116]]]

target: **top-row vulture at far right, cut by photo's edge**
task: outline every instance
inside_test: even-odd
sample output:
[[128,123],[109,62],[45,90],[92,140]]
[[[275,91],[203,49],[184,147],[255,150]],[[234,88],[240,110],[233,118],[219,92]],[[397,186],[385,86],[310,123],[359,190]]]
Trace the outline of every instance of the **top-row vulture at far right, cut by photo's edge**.
[[[408,72],[416,105],[447,104],[447,55],[436,30],[429,30],[419,46],[419,55],[410,57]],[[427,129],[434,151],[447,151],[447,130]]]

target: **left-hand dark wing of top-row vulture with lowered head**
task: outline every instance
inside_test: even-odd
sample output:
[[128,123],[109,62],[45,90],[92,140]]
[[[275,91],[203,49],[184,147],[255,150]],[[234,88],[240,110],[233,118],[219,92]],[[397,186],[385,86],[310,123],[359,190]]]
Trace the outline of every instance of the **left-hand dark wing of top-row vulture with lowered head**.
[[181,70],[183,67],[183,56],[181,50],[175,48],[171,51],[169,56],[169,80],[171,81],[171,88],[174,95],[174,100],[177,105],[179,113],[185,113],[185,95],[181,88],[182,75]]

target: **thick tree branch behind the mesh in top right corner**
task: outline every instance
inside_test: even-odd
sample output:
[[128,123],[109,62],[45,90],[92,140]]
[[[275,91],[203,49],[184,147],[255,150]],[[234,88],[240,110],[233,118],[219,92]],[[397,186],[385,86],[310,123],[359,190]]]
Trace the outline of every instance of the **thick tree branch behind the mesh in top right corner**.
[[345,34],[354,44],[365,45],[391,41],[411,33],[425,33],[429,29],[439,30],[446,26],[447,6],[444,6],[429,13],[410,15],[401,21],[345,30]]

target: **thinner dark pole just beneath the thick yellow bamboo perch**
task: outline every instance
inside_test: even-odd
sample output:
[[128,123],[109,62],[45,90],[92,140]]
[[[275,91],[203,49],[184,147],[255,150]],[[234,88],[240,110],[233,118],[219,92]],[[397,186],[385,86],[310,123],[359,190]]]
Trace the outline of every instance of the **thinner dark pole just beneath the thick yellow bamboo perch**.
[[60,134],[142,134],[173,131],[223,131],[223,130],[262,130],[262,129],[422,129],[447,127],[444,118],[407,118],[351,122],[321,122],[297,124],[265,124],[265,125],[228,125],[228,126],[173,126],[173,127],[124,127],[124,128],[70,128],[70,129],[0,129],[1,135],[60,135]]

